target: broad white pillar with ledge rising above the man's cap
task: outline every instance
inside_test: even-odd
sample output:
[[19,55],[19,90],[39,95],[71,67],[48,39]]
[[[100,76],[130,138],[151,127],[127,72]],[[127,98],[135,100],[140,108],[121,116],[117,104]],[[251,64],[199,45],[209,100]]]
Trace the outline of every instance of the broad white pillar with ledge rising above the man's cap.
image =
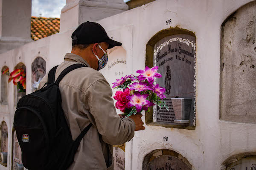
[[123,0],[66,0],[66,3],[61,10],[60,32],[128,10]]

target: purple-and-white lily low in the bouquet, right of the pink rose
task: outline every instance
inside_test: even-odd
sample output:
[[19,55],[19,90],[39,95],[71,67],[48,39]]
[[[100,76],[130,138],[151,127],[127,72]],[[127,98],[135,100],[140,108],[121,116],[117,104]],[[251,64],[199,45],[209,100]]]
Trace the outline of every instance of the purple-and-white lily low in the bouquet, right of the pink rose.
[[131,102],[128,103],[129,107],[136,107],[137,113],[139,113],[143,106],[150,105],[150,101],[147,100],[148,94],[140,95],[140,92],[135,92],[134,95],[127,96],[126,98]]

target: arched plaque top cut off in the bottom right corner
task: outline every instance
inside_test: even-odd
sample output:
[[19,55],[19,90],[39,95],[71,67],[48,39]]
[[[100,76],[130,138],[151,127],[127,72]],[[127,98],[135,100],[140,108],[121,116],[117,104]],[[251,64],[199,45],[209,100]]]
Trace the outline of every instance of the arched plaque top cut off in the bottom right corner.
[[247,157],[231,164],[227,170],[256,170],[256,156]]

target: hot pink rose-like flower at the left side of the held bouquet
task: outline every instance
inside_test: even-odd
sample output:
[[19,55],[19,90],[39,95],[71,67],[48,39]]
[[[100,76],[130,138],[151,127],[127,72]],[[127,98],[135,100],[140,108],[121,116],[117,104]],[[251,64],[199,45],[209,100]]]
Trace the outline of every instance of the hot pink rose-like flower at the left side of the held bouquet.
[[120,111],[125,112],[125,108],[130,108],[128,106],[128,103],[130,102],[126,97],[130,95],[130,91],[128,88],[125,89],[125,91],[116,91],[116,96],[113,96],[113,98],[117,101],[116,102],[116,108],[118,108]]

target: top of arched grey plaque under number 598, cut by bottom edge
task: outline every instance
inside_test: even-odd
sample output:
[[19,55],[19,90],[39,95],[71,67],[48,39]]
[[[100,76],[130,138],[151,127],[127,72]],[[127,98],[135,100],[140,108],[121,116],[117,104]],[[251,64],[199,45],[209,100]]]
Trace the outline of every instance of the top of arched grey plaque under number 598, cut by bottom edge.
[[148,164],[149,170],[191,170],[191,168],[186,165],[183,161],[180,159],[164,155],[159,156],[156,159],[153,159]]

